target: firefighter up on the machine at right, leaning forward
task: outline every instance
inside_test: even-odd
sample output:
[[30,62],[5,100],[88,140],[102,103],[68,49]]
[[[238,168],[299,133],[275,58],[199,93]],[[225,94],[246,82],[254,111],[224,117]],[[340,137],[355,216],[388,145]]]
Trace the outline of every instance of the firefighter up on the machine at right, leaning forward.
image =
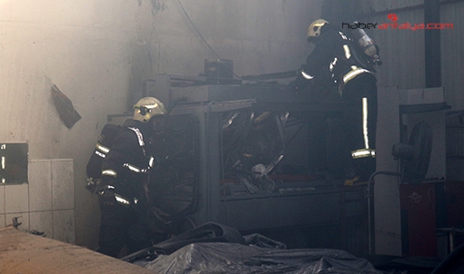
[[[377,80],[375,70],[363,62],[357,44],[324,19],[309,24],[308,42],[316,47],[308,55],[295,89],[313,83],[333,83],[346,104],[341,122],[347,133],[350,168],[344,175],[352,181],[366,181],[376,171],[375,147],[377,131]],[[315,80],[321,80],[316,82]]]

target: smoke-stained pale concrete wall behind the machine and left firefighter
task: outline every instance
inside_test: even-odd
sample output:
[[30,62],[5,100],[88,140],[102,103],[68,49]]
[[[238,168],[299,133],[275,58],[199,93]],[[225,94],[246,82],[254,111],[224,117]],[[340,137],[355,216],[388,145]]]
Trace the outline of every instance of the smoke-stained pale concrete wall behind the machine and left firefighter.
[[[237,75],[299,68],[320,6],[321,0],[0,0],[0,141],[28,142],[30,161],[74,160],[76,244],[95,248],[99,211],[84,188],[85,167],[106,115],[128,110],[153,75],[197,75],[207,58],[234,60]],[[53,84],[82,116],[70,129],[56,112]]]

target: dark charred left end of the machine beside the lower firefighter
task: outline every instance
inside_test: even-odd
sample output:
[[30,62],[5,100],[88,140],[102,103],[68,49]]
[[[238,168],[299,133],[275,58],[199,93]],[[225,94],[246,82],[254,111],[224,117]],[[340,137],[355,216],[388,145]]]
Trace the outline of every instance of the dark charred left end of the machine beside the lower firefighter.
[[165,226],[175,234],[186,230],[183,226],[195,226],[186,216],[197,210],[198,204],[197,123],[193,115],[167,117],[165,131],[155,136],[151,147],[161,155],[150,174],[152,225]]

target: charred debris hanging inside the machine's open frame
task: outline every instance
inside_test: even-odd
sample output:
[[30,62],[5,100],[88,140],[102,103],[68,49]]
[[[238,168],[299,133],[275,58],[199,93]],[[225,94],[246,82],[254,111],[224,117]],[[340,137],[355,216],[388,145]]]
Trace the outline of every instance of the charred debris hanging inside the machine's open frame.
[[288,113],[225,113],[222,125],[224,180],[240,181],[250,193],[276,191],[269,174],[284,157]]

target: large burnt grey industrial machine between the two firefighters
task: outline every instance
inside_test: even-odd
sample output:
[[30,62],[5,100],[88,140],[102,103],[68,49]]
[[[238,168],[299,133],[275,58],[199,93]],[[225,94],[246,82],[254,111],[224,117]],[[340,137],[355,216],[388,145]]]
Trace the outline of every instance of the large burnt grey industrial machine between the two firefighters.
[[367,202],[365,188],[337,177],[340,102],[275,81],[173,74],[147,81],[144,96],[169,106],[164,135],[154,140],[162,156],[151,192],[176,230],[207,221],[244,233],[330,227],[332,234],[323,230],[332,247],[359,245],[354,231],[367,228]]

